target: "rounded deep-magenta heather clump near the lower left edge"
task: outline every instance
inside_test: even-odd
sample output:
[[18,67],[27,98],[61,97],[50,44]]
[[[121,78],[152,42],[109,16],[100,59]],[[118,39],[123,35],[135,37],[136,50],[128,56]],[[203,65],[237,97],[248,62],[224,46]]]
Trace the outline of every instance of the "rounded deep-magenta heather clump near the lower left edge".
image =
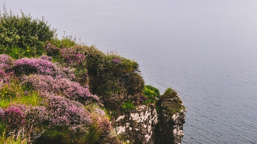
[[25,124],[25,115],[19,107],[10,106],[5,110],[2,120],[7,123],[8,128],[22,127]]

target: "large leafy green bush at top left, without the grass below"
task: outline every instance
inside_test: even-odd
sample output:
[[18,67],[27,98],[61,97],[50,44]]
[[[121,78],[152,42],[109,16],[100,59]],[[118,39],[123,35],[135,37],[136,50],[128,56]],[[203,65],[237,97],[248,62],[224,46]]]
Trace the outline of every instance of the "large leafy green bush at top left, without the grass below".
[[44,18],[32,19],[21,11],[21,16],[7,12],[5,6],[3,13],[0,12],[0,43],[8,47],[17,45],[26,48],[27,45],[41,46],[42,42],[50,40],[55,36],[55,29],[50,29]]

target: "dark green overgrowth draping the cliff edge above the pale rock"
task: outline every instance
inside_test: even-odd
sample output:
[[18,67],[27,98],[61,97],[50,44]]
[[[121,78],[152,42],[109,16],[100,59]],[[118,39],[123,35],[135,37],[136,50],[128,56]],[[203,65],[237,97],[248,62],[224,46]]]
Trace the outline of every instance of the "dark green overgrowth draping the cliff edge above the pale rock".
[[135,95],[142,92],[144,80],[138,73],[138,63],[114,54],[105,55],[94,46],[84,46],[84,50],[93,93],[109,97],[114,93]]

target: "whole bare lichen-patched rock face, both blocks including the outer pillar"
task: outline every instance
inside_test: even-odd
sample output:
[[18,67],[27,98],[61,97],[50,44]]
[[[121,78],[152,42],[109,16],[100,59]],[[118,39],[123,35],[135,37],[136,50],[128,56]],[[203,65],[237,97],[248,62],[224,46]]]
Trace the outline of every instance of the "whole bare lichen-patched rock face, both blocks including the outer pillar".
[[160,97],[156,104],[158,114],[155,104],[118,112],[113,120],[117,134],[122,134],[128,143],[134,144],[180,144],[184,136],[186,110],[175,91],[174,94],[172,97]]

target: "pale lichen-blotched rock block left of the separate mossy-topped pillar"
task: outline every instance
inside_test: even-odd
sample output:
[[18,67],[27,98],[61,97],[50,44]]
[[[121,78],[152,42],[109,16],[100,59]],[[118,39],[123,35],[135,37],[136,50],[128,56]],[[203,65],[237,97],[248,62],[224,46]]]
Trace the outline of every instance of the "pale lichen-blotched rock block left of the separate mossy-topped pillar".
[[156,124],[155,105],[141,105],[129,112],[117,114],[115,129],[117,134],[127,137],[128,143],[152,144]]

